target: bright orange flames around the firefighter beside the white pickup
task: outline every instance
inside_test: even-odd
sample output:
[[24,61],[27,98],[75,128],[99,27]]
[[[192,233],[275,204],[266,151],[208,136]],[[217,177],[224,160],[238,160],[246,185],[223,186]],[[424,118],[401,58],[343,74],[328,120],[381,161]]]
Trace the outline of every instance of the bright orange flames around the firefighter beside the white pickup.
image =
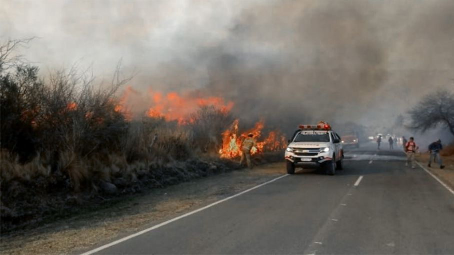
[[222,133],[222,148],[219,150],[221,158],[235,158],[241,155],[241,143],[252,134],[257,140],[257,147],[253,147],[251,154],[263,153],[264,151],[278,151],[287,147],[285,136],[280,135],[279,131],[271,131],[268,136],[261,140],[262,130],[264,128],[263,120],[257,122],[251,130],[238,133],[239,120],[233,121],[232,126]]

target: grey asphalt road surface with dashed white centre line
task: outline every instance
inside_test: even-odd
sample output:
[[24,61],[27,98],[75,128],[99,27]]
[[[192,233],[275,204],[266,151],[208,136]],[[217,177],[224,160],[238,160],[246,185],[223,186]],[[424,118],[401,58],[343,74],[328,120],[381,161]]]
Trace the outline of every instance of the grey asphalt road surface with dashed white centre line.
[[99,253],[454,254],[454,195],[404,160],[353,149],[335,176],[288,175]]

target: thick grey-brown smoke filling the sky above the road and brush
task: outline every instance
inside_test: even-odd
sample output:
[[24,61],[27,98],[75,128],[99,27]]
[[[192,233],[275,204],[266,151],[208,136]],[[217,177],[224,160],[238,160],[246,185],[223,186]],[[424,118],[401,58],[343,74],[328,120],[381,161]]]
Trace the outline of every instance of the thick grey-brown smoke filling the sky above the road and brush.
[[[454,1],[2,1],[0,34],[38,36],[42,70],[122,58],[149,89],[221,96],[246,123],[393,123],[454,91]],[[385,125],[385,124],[384,124]]]

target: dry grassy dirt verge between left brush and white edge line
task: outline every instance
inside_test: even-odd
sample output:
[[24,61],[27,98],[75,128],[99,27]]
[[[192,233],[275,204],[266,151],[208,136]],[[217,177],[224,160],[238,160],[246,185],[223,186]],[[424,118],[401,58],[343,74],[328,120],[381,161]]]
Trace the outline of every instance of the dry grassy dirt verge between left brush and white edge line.
[[2,235],[2,254],[68,254],[87,251],[285,174],[283,163],[196,179],[106,206],[34,230]]

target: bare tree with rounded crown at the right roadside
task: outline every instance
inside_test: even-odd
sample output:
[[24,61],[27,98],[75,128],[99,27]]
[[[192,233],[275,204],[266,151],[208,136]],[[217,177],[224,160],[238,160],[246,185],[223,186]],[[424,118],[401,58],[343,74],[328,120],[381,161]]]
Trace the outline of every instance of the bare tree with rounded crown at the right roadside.
[[409,112],[415,131],[425,132],[439,125],[446,126],[454,135],[454,93],[441,89],[426,95]]

